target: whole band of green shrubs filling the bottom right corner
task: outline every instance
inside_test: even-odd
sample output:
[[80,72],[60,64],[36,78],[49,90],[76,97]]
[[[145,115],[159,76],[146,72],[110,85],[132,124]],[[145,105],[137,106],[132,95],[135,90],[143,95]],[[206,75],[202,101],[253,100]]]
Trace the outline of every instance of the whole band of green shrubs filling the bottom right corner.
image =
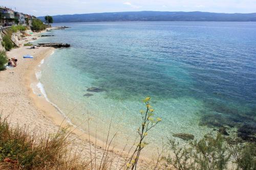
[[238,170],[256,169],[255,143],[230,141],[219,133],[216,137],[205,135],[199,141],[194,140],[189,143],[190,147],[180,147],[179,142],[169,139],[168,147],[174,155],[168,156],[166,161],[178,170],[224,170],[232,163]]

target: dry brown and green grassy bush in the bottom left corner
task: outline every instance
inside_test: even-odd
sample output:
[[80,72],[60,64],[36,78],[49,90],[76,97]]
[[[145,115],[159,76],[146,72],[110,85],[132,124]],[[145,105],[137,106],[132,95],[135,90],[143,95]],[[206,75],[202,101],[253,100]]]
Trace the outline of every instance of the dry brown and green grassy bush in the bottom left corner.
[[0,169],[84,169],[82,160],[69,155],[68,135],[62,129],[38,137],[0,117]]

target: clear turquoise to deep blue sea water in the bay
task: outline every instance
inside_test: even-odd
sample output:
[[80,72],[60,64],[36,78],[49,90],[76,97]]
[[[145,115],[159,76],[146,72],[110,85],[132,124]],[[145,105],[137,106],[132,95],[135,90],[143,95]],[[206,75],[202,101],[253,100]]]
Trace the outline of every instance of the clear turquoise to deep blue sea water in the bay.
[[[255,22],[60,23],[40,42],[70,43],[41,64],[48,99],[87,131],[136,134],[151,96],[161,124],[148,135],[202,137],[220,126],[256,127]],[[103,89],[88,92],[89,87]],[[92,96],[84,96],[86,93]],[[94,132],[93,132],[94,133]],[[104,135],[101,135],[104,136]]]

